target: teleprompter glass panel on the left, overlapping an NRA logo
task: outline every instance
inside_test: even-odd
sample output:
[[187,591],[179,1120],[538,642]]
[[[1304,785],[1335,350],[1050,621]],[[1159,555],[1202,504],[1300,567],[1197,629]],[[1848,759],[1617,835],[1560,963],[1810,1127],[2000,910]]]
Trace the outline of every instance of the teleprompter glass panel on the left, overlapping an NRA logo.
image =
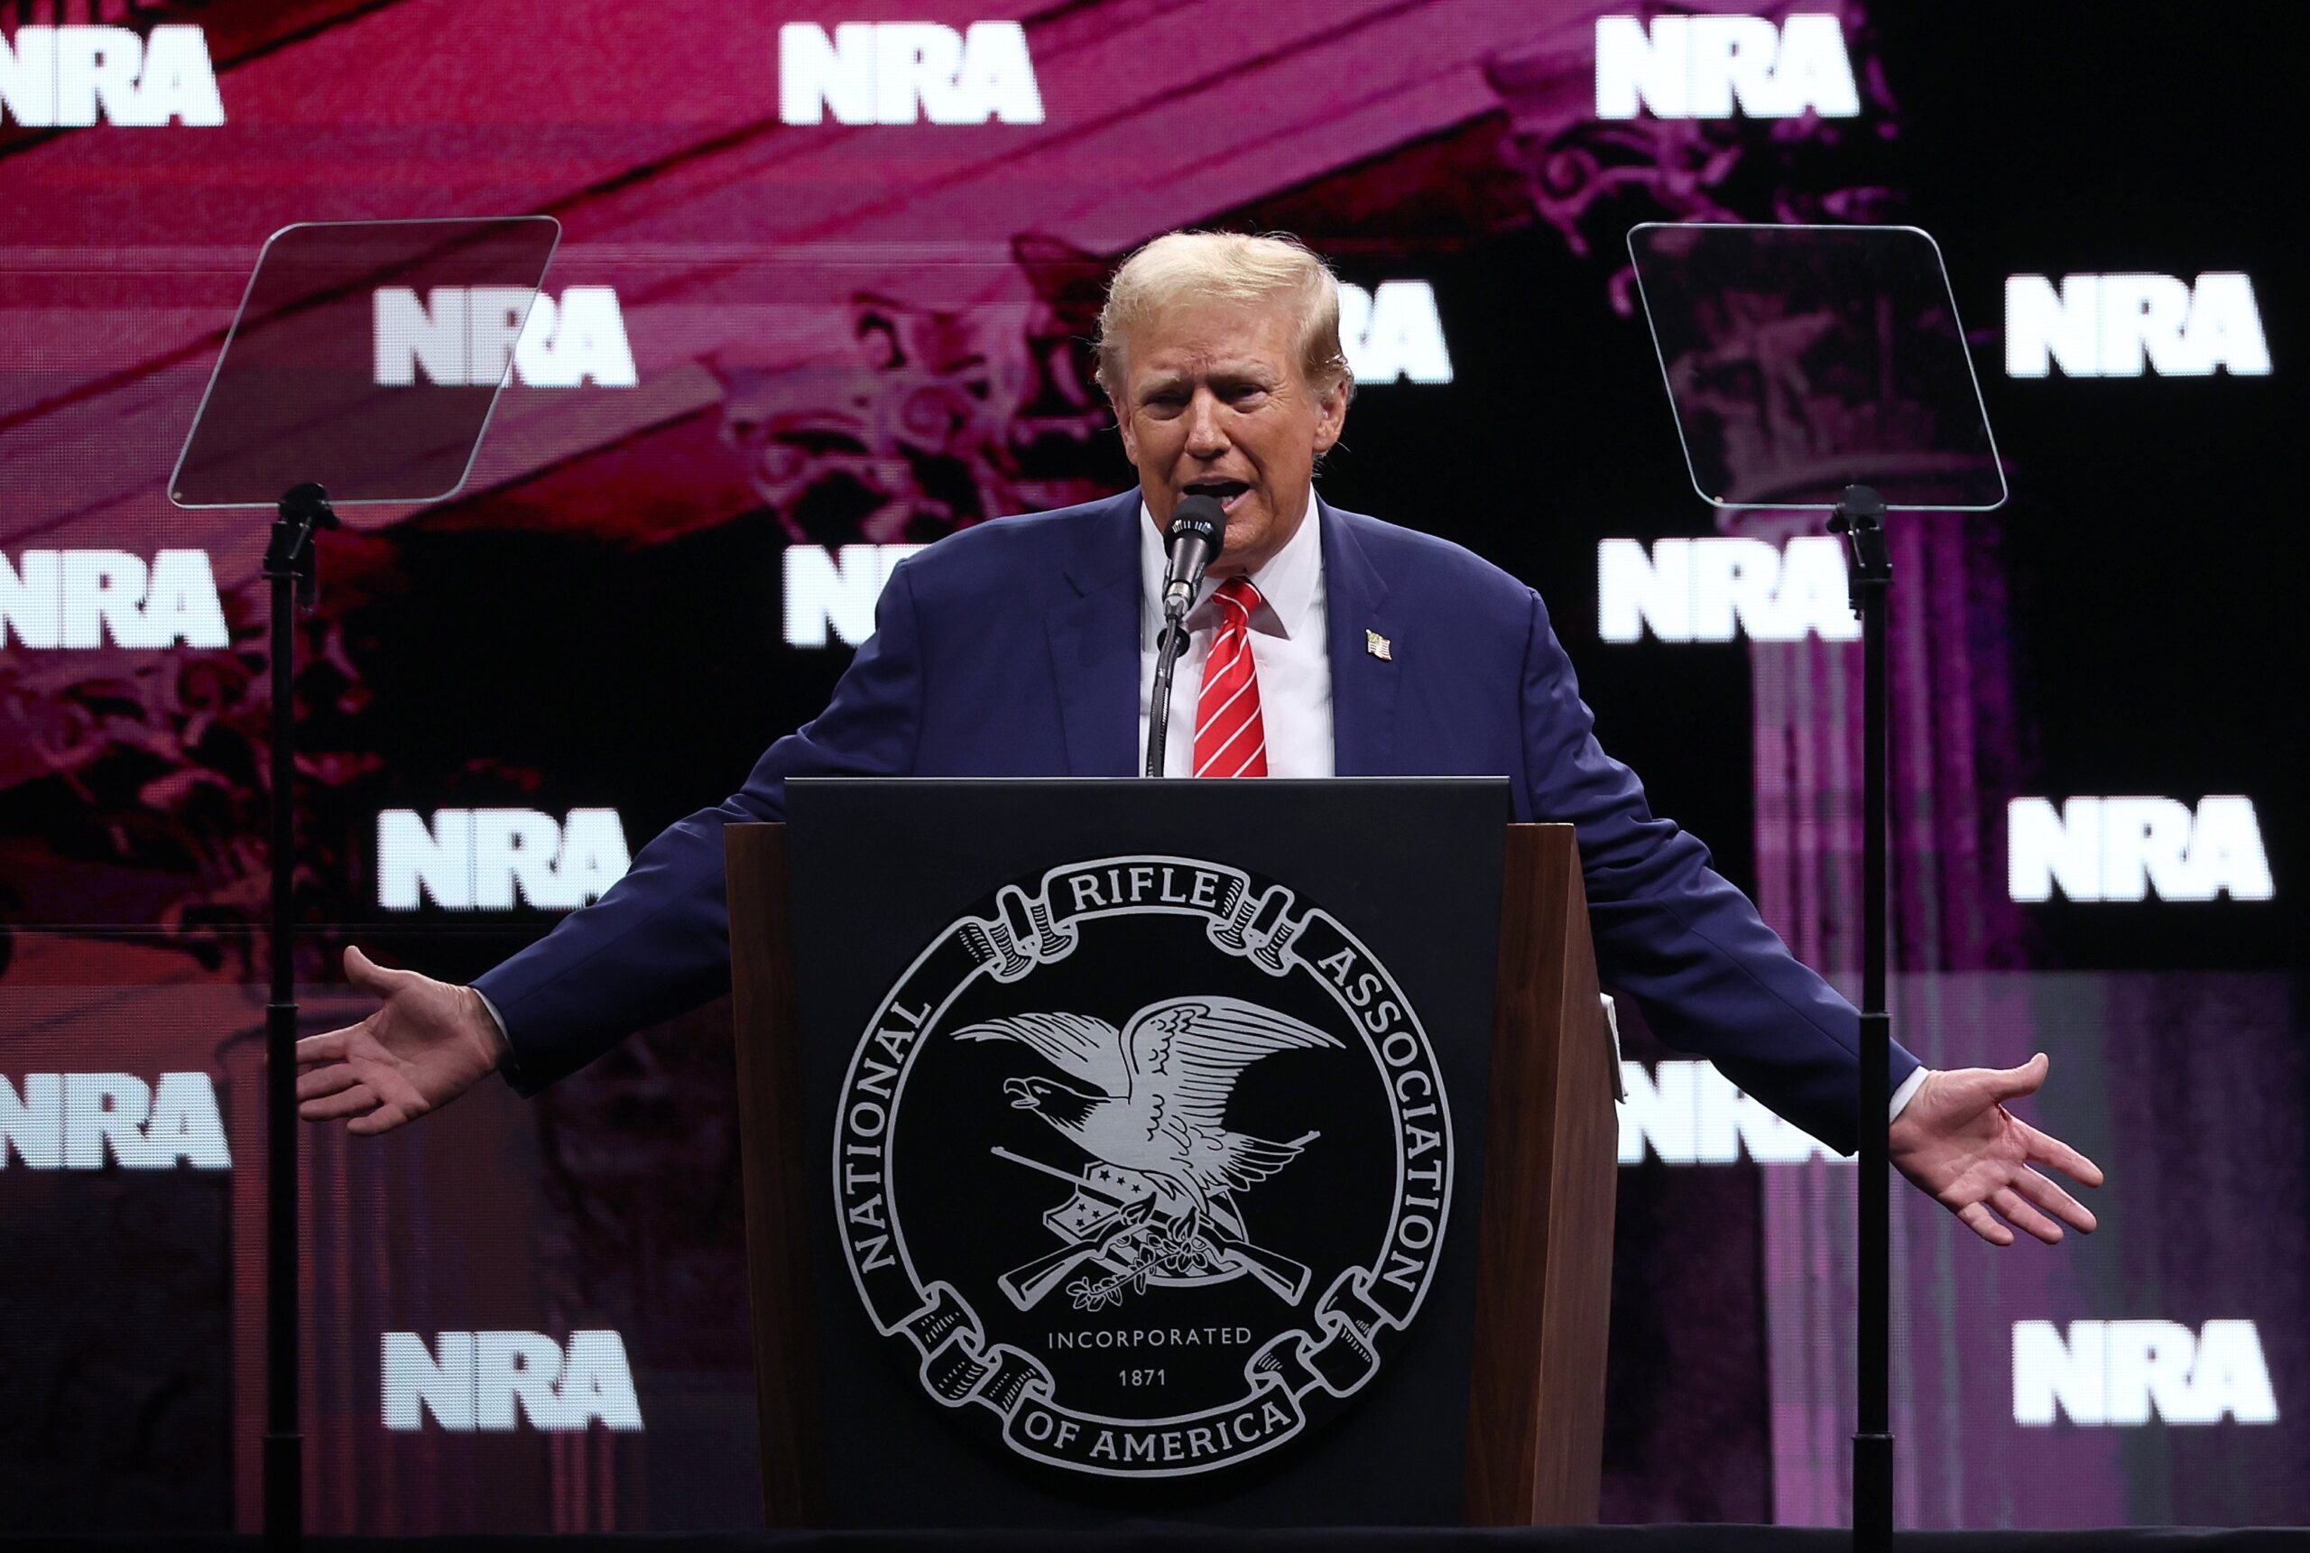
[[249,275],[169,499],[434,501],[464,483],[561,224],[300,222]]

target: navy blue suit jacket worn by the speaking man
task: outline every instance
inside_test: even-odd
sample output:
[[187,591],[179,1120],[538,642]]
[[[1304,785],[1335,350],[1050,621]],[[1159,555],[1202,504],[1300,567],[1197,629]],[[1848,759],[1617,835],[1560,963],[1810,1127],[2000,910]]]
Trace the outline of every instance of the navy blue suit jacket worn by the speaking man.
[[[1670,1045],[1853,1149],[1860,1017],[1599,749],[1538,594],[1441,538],[1317,513],[1337,772],[1508,776],[1518,820],[1571,820],[1605,984]],[[728,989],[721,827],[781,818],[788,776],[1132,776],[1137,525],[1132,490],[963,529],[903,562],[820,716],[476,982],[506,1021],[515,1086],[534,1093]],[[1365,631],[1393,656],[1365,652]],[[1897,1047],[1892,1082],[1915,1065]]]

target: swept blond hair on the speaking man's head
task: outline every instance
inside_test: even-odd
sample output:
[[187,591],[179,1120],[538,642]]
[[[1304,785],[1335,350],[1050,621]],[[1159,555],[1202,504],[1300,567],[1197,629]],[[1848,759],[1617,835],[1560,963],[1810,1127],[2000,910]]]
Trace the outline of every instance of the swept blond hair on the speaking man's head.
[[1287,303],[1298,324],[1301,374],[1317,393],[1354,391],[1340,349],[1340,282],[1331,266],[1287,231],[1167,231],[1139,247],[1106,282],[1100,307],[1100,365],[1109,397],[1123,393],[1123,347],[1134,328],[1190,303]]

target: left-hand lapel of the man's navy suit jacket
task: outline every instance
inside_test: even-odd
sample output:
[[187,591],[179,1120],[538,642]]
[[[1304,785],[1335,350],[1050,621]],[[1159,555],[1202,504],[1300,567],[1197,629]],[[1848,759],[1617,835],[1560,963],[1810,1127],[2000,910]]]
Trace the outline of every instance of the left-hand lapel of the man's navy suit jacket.
[[1081,525],[1067,582],[1076,596],[1049,615],[1067,774],[1130,776],[1139,765],[1137,488]]

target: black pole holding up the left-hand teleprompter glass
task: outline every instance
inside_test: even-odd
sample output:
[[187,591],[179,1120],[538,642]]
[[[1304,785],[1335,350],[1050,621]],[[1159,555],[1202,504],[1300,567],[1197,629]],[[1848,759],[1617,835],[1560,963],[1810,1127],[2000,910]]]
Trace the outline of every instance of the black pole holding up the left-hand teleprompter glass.
[[305,1435],[298,1426],[296,1227],[296,610],[314,601],[314,543],[337,527],[328,492],[298,485],[280,501],[266,580],[273,585],[273,929],[266,1001],[266,1546],[305,1530]]

